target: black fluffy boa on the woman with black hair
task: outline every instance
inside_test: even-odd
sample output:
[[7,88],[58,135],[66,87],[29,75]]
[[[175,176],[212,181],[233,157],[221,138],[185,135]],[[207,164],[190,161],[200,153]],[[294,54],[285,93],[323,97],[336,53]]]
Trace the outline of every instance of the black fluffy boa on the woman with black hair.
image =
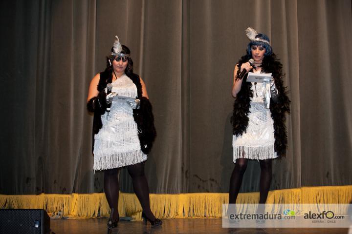
[[[153,142],[156,137],[156,130],[154,127],[154,116],[152,112],[152,104],[150,103],[148,98],[145,98],[142,96],[142,84],[140,82],[139,76],[134,73],[126,74],[126,75],[132,80],[132,82],[137,87],[137,98],[140,99],[140,108],[133,110],[133,118],[134,118],[134,121],[137,123],[138,138],[139,138],[141,150],[144,154],[148,154],[153,147]],[[111,83],[111,81],[112,81],[112,75],[109,69],[105,70],[104,72],[101,72],[100,80],[97,87],[99,93],[104,92],[104,89],[106,88],[107,84]],[[88,106],[88,111],[92,111],[92,109],[89,108],[89,106]],[[104,113],[105,111],[94,112],[92,152],[94,149],[94,135],[97,134],[99,130],[103,127],[101,116]]]

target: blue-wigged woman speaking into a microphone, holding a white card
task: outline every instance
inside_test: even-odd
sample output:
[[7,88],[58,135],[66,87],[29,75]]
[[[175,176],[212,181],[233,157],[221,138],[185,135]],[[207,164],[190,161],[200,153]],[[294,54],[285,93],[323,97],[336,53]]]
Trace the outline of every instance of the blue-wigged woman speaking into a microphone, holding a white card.
[[[285,121],[286,113],[290,112],[290,100],[283,85],[282,64],[273,54],[265,34],[258,34],[249,27],[246,35],[250,42],[246,55],[235,66],[232,87],[235,168],[230,178],[230,204],[236,203],[248,159],[260,163],[259,203],[265,203],[272,178],[272,159],[285,156],[287,146]],[[248,62],[250,59],[253,59],[252,64]],[[271,73],[273,78],[267,82],[246,82],[247,76],[242,78],[241,75],[249,71]]]

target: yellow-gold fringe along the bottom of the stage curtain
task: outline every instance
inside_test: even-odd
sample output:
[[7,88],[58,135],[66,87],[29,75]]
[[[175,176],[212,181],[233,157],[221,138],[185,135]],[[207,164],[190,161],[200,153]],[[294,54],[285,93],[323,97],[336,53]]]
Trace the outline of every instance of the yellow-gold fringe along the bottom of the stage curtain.
[[[305,204],[312,211],[318,211],[328,209],[331,204],[338,214],[344,215],[351,199],[352,186],[302,187],[270,191],[266,206],[268,210],[277,210],[278,205],[287,204],[286,209],[297,211],[301,204]],[[223,206],[227,207],[228,205],[228,194],[151,194],[150,202],[152,212],[157,218],[219,218],[225,215]],[[236,204],[243,209],[251,209],[251,204],[258,202],[258,192],[241,193]],[[335,204],[344,205],[337,208]],[[44,209],[52,218],[81,219],[110,215],[109,204],[104,193],[0,195],[0,207],[5,209]],[[120,217],[124,217],[125,220],[131,218],[141,220],[142,207],[134,194],[121,193],[118,210]]]

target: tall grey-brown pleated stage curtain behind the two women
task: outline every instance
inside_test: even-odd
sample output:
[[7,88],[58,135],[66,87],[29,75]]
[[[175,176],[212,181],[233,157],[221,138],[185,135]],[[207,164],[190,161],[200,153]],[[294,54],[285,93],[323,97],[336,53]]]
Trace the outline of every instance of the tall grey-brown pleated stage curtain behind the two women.
[[[151,193],[227,193],[233,69],[248,26],[271,39],[292,101],[271,190],[350,185],[351,0],[4,0],[0,194],[103,192],[86,98],[115,35],[154,108]],[[259,177],[251,161],[241,192],[259,191]],[[120,187],[133,192],[126,170]]]

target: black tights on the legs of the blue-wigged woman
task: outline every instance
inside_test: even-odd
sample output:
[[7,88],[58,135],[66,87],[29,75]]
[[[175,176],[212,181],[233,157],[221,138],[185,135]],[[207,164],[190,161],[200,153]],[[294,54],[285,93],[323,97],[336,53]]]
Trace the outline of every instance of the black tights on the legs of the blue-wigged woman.
[[[236,203],[237,195],[240,192],[243,174],[247,168],[246,158],[238,158],[236,159],[235,168],[232,172],[230,178],[230,193],[229,193],[229,203]],[[259,203],[265,203],[270,183],[271,183],[271,159],[260,160],[261,167],[261,179],[260,179],[260,193],[259,193]]]

